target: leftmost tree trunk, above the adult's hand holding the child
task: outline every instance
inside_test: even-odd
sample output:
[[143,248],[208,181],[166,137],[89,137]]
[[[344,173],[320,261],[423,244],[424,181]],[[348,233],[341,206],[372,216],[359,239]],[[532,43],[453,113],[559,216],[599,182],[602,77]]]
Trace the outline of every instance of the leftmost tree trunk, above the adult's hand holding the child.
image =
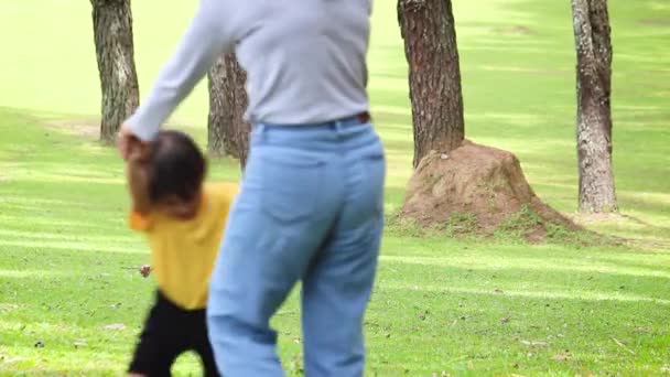
[[139,104],[130,0],[90,0],[100,74],[100,140],[112,142]]

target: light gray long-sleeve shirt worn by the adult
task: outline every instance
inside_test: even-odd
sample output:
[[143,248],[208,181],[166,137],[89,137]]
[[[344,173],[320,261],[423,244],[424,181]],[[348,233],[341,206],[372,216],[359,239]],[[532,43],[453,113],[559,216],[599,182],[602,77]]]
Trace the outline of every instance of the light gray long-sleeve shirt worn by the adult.
[[372,0],[201,0],[176,52],[127,120],[142,140],[235,47],[247,71],[252,123],[306,125],[368,109]]

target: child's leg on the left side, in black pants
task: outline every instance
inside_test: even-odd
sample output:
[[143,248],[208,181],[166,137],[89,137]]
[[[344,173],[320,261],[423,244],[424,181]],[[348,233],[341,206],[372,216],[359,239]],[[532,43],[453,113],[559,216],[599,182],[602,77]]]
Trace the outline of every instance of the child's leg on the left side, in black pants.
[[170,376],[176,357],[187,348],[187,335],[180,330],[179,308],[156,293],[140,341],[128,367],[129,376]]

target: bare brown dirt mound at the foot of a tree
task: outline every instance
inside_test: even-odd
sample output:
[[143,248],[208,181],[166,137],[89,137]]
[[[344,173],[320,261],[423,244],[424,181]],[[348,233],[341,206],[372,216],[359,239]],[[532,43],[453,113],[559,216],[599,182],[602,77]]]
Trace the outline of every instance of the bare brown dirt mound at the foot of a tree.
[[469,141],[449,155],[431,152],[421,160],[400,213],[421,225],[449,224],[471,216],[475,225],[472,230],[480,234],[514,227],[519,214],[532,217],[520,225],[531,240],[542,239],[548,224],[579,229],[540,201],[512,153]]

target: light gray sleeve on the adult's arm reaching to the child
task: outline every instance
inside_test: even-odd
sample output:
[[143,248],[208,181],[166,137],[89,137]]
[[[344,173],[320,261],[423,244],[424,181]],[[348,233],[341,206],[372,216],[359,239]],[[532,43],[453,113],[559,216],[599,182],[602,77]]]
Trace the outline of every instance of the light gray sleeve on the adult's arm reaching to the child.
[[202,0],[176,51],[161,69],[151,93],[126,125],[141,140],[155,138],[161,125],[234,43],[228,1]]

